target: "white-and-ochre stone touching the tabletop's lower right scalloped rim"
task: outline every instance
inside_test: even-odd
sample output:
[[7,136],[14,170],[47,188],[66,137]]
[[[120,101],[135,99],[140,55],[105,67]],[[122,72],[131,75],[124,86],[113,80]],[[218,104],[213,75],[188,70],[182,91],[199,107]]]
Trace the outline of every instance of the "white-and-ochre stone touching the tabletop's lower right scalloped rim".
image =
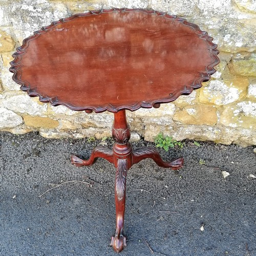
[[210,80],[200,89],[202,103],[226,105],[245,97],[249,79],[242,76],[229,76],[225,80]]

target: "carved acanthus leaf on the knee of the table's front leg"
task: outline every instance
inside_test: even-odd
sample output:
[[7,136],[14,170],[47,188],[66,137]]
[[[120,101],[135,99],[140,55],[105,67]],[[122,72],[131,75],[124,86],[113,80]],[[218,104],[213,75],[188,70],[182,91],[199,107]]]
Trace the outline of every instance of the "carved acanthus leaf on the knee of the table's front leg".
[[124,197],[126,175],[127,159],[118,159],[116,170],[116,194],[119,201],[121,201]]

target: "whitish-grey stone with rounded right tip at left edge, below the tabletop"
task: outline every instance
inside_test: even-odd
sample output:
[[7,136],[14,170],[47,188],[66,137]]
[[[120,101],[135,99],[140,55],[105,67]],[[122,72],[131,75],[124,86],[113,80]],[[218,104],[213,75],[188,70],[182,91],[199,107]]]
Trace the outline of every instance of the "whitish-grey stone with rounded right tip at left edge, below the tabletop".
[[0,128],[10,128],[23,123],[22,117],[11,110],[0,107]]

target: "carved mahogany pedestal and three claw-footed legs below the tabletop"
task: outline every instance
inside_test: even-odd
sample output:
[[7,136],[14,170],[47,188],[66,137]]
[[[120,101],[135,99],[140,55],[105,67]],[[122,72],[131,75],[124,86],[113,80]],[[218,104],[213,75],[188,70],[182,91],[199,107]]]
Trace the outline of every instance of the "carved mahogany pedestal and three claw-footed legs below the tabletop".
[[104,146],[96,146],[88,160],[72,156],[71,162],[81,167],[84,165],[92,165],[101,157],[115,164],[116,232],[115,237],[112,237],[111,245],[116,252],[120,252],[126,246],[126,238],[123,235],[123,222],[127,170],[129,170],[133,164],[146,158],[153,159],[158,166],[177,170],[183,166],[184,159],[175,158],[171,159],[169,162],[164,162],[154,147],[143,147],[133,151],[132,145],[129,142],[130,130],[126,122],[125,110],[114,114],[112,135],[115,140],[113,149]]

